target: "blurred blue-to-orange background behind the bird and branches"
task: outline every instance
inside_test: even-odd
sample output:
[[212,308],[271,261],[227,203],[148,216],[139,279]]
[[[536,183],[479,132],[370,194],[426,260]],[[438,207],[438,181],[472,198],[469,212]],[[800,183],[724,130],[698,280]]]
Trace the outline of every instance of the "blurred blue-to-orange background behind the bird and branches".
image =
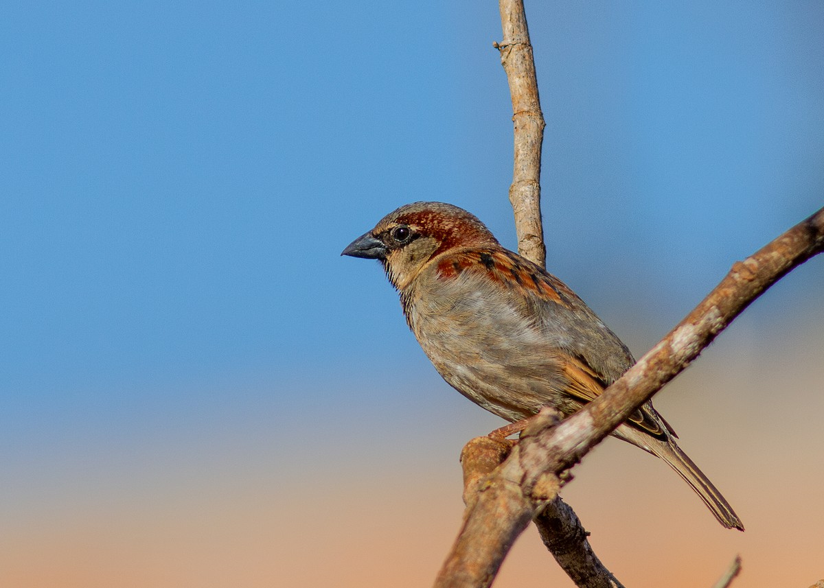
[[[824,203],[824,3],[529,2],[550,270],[636,355]],[[463,443],[377,264],[419,199],[514,247],[496,2],[0,8],[0,586],[427,586]],[[824,266],[657,397],[742,516],[607,441],[627,586],[824,576]],[[534,530],[496,586],[570,586]]]

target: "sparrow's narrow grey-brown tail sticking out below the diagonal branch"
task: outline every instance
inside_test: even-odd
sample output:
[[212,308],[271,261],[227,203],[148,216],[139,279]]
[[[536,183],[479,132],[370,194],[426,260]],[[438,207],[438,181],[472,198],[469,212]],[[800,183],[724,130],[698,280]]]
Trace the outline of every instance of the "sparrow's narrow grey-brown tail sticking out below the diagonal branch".
[[741,519],[735,514],[733,507],[729,506],[727,499],[722,496],[718,488],[715,488],[713,483],[709,481],[709,478],[698,469],[695,462],[676,445],[675,441],[659,441],[627,425],[619,427],[619,430],[616,431],[616,436],[619,436],[625,441],[630,441],[633,445],[648,450],[653,455],[666,461],[681,478],[684,478],[686,483],[690,484],[690,487],[701,497],[701,500],[704,501],[709,511],[713,513],[721,525],[728,529],[744,530]]

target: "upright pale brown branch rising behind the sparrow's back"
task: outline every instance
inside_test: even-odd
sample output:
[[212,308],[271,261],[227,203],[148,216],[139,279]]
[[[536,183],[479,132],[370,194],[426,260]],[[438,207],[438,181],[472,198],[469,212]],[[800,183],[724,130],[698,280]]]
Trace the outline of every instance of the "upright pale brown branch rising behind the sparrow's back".
[[499,7],[503,41],[493,46],[500,51],[513,99],[515,165],[509,202],[515,213],[517,250],[543,268],[546,247],[541,226],[541,143],[546,124],[523,0],[499,0]]

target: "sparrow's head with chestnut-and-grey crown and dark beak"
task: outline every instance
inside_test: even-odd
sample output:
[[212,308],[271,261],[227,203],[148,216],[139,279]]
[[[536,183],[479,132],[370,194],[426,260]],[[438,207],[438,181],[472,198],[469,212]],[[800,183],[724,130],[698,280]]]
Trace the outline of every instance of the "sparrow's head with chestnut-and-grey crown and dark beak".
[[498,240],[470,212],[452,204],[416,202],[387,214],[342,255],[380,259],[392,285],[403,289],[438,255],[489,245]]

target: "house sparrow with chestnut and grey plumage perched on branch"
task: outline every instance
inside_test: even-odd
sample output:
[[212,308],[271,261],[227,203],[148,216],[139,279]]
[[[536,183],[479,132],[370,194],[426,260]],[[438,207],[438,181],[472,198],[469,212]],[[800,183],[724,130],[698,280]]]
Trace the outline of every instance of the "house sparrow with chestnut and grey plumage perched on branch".
[[[452,204],[402,206],[342,254],[380,260],[400,292],[406,322],[443,379],[510,422],[545,404],[574,413],[635,362],[564,282],[504,249],[482,222]],[[666,461],[723,526],[744,529],[651,403],[612,434]]]

